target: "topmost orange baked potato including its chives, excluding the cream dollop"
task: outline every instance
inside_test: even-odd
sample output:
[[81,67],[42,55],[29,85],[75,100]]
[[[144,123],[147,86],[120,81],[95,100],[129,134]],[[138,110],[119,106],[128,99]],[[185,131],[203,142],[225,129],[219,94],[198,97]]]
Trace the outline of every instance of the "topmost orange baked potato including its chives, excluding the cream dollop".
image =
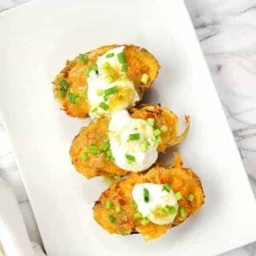
[[[134,84],[139,100],[141,100],[144,92],[150,88],[157,77],[160,65],[154,58],[154,55],[151,55],[148,50],[135,45],[123,46],[126,59],[125,78],[130,79]],[[92,111],[87,95],[88,71],[95,67],[96,61],[100,56],[117,47],[120,47],[120,45],[107,45],[85,54],[80,54],[73,61],[67,61],[66,67],[56,75],[53,82],[54,96],[60,103],[61,109],[68,115],[86,118],[90,111]],[[114,70],[112,73],[114,73]],[[109,77],[107,79],[109,83]],[[127,91],[125,92],[125,90],[119,90],[116,94],[115,105],[116,102],[125,104],[126,93]]]

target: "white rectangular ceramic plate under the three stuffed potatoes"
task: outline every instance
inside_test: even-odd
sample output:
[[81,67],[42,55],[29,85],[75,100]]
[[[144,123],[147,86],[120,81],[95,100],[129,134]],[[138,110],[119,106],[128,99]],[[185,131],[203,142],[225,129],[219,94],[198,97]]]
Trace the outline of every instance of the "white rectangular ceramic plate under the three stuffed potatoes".
[[[256,207],[183,2],[35,1],[0,15],[0,104],[49,256],[207,255],[256,237]],[[102,44],[138,44],[160,61],[147,101],[191,115],[178,148],[201,177],[206,203],[159,240],[110,236],[91,207],[106,188],[69,160],[73,137],[89,119],[58,109],[51,81],[67,58]]]

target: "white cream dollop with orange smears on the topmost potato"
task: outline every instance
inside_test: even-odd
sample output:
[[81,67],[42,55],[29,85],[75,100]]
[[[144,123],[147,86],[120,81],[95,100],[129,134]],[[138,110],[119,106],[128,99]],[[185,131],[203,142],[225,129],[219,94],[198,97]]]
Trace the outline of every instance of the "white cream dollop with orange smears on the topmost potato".
[[[104,55],[99,56],[96,61],[97,71],[92,70],[89,73],[87,96],[90,102],[89,114],[93,119],[121,109],[131,108],[140,101],[134,84],[128,79],[126,73],[122,72],[122,64],[119,63],[118,54],[123,52],[124,48],[120,46],[110,49]],[[113,56],[108,57],[109,54]],[[105,96],[104,92],[115,86],[117,86],[117,91]],[[102,102],[105,103],[105,105],[103,103],[103,108],[100,105]]]

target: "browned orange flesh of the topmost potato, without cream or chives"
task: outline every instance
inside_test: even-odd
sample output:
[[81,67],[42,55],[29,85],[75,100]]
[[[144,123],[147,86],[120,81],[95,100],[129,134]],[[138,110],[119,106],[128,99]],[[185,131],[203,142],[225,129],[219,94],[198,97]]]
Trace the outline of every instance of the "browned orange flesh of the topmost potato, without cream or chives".
[[[87,91],[87,80],[85,75],[87,67],[93,65],[98,56],[105,54],[109,49],[119,46],[120,45],[117,44],[102,46],[86,53],[88,56],[88,62],[86,64],[83,64],[79,60],[79,56],[77,56],[73,61],[67,61],[66,67],[56,75],[53,82],[54,96],[55,99],[60,102],[61,109],[63,109],[68,115],[78,118],[86,118],[88,116],[90,103],[85,96],[85,92]],[[154,79],[156,79],[160,65],[154,56],[146,49],[135,45],[125,45],[124,51],[128,63],[127,76],[133,81],[139,96],[142,97],[143,93],[150,88]],[[147,84],[142,84],[140,81],[143,73],[148,73],[149,75]],[[66,79],[69,84],[67,93],[63,98],[59,96],[60,83],[62,79]],[[79,94],[78,103],[69,103],[67,101],[67,95],[69,92]]]

